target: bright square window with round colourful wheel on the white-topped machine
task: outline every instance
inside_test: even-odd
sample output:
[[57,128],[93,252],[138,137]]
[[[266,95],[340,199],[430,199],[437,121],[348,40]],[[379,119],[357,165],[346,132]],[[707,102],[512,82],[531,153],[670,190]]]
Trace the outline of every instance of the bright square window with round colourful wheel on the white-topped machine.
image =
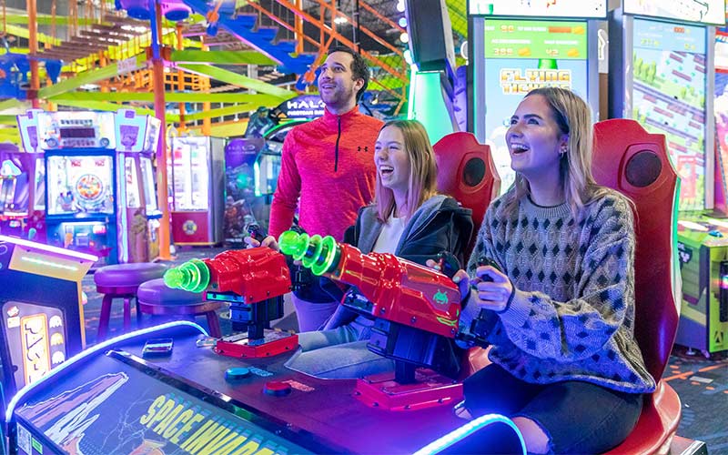
[[114,214],[114,162],[109,156],[49,156],[48,215]]

